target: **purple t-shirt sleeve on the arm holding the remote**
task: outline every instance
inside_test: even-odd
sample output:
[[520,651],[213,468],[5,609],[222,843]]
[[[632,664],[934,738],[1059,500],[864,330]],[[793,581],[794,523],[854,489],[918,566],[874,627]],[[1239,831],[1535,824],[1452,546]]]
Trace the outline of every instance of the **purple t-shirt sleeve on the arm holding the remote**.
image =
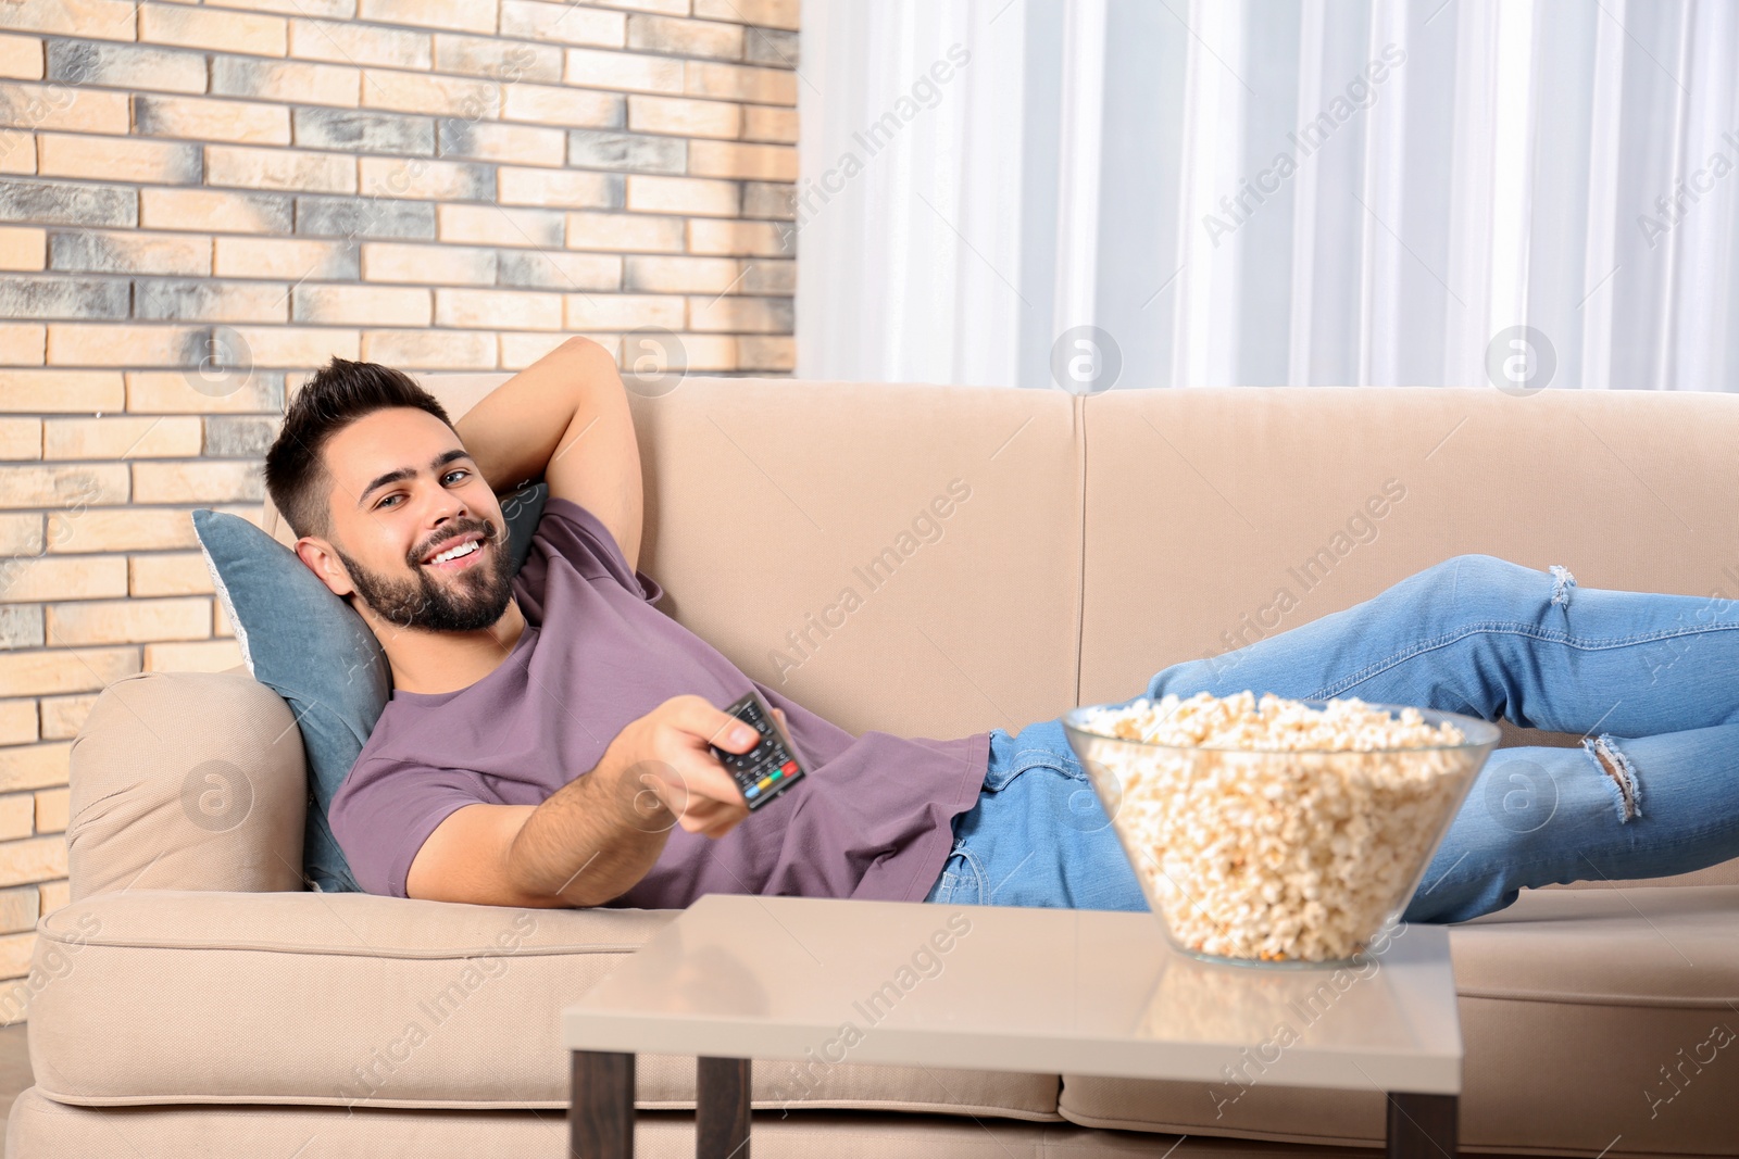
[[497,805],[476,773],[365,758],[344,778],[327,820],[365,893],[405,897],[417,850],[450,813]]

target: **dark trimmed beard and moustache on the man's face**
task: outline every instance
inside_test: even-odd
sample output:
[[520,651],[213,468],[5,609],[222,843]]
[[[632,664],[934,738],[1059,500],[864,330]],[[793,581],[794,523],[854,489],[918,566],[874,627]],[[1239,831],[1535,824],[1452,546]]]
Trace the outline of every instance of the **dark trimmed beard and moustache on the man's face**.
[[513,560],[503,551],[503,539],[494,525],[482,520],[461,523],[445,533],[476,532],[476,551],[489,553],[473,566],[454,572],[449,579],[435,575],[419,560],[409,560],[412,579],[396,579],[384,572],[370,572],[356,560],[339,551],[337,558],[350,570],[356,598],[388,624],[430,632],[475,632],[496,624],[513,598]]

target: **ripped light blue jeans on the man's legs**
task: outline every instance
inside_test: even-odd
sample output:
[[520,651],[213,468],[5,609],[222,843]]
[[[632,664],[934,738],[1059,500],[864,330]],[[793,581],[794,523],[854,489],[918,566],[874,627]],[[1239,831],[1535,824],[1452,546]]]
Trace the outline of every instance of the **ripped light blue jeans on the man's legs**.
[[[1343,612],[1174,664],[1143,695],[1245,688],[1582,735],[1492,752],[1407,921],[1739,857],[1739,601],[1577,587],[1556,565],[1456,556]],[[984,789],[953,829],[927,902],[1148,909],[1061,721],[993,730]]]

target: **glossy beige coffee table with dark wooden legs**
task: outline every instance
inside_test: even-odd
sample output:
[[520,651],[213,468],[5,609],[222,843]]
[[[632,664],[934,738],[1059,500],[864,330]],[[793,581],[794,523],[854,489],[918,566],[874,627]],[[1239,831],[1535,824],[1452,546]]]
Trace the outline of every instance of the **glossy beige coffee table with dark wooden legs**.
[[697,1056],[701,1159],[748,1159],[751,1058],[823,1055],[1226,1096],[1381,1089],[1389,1156],[1456,1156],[1461,1025],[1442,926],[1396,926],[1336,973],[1202,963],[1151,914],[715,893],[563,1010],[562,1043],[584,1159],[633,1154],[636,1051]]

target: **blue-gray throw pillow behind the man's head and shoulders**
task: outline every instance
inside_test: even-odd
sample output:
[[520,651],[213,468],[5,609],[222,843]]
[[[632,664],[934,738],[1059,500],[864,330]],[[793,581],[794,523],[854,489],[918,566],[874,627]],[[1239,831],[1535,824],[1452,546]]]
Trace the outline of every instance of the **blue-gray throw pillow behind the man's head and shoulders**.
[[[515,575],[530,553],[548,495],[550,488],[536,483],[501,500]],[[247,671],[283,697],[303,732],[308,754],[303,874],[322,893],[360,893],[327,810],[391,695],[393,676],[381,641],[294,551],[247,520],[202,507],[193,513],[193,532]]]

